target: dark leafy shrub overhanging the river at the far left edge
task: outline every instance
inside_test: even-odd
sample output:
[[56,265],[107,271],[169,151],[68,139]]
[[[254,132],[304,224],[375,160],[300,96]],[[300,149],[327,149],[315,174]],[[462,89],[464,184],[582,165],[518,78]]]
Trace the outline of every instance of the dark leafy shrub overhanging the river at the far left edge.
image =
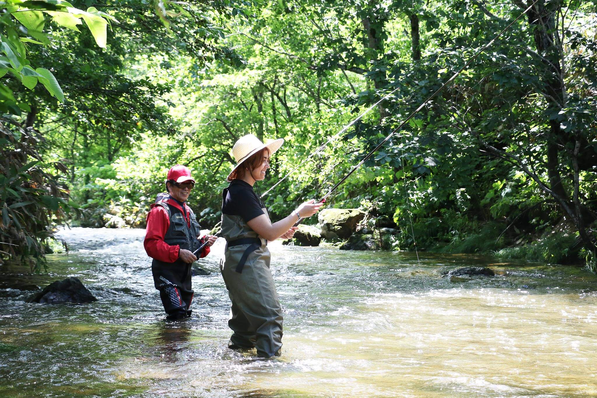
[[67,172],[66,166],[42,161],[38,148],[43,142],[34,129],[8,129],[0,122],[0,264],[19,258],[39,270],[53,236],[52,221],[72,208],[66,187],[50,174]]

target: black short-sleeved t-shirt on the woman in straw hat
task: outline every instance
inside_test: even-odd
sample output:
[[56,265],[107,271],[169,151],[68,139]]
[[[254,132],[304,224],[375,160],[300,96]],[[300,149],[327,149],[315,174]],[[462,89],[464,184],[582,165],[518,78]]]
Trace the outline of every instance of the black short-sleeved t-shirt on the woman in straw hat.
[[227,215],[240,215],[245,223],[253,218],[265,214],[265,206],[259,196],[253,191],[253,187],[242,180],[233,180],[224,189],[222,201],[222,213]]

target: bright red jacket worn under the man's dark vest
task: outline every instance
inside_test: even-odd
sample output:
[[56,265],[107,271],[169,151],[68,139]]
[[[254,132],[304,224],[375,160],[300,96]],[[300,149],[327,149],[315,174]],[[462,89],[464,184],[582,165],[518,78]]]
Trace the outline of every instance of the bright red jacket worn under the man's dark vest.
[[[186,222],[190,227],[190,208],[184,203],[184,209],[180,207],[179,203],[174,199],[168,199],[166,201],[169,205],[178,208],[181,212],[186,213]],[[145,232],[145,240],[143,240],[143,246],[149,257],[155,258],[158,261],[164,261],[164,263],[174,263],[179,258],[180,246],[170,246],[164,242],[164,236],[170,227],[170,218],[166,209],[162,206],[156,206],[155,203],[151,205],[151,210],[147,215],[147,230]],[[205,257],[210,252],[209,246],[205,246],[199,258]]]

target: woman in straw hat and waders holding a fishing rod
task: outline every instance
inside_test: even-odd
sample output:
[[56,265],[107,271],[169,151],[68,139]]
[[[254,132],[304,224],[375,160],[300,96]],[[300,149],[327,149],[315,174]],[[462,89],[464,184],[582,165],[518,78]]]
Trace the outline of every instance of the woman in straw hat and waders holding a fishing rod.
[[284,143],[263,144],[254,135],[241,137],[232,148],[236,166],[222,196],[221,236],[226,250],[220,264],[232,308],[229,348],[257,348],[260,357],[279,356],[282,347],[282,308],[269,270],[268,240],[290,238],[299,218],[315,214],[321,203],[304,202],[286,218],[273,223],[253,184],[263,180],[269,157]]

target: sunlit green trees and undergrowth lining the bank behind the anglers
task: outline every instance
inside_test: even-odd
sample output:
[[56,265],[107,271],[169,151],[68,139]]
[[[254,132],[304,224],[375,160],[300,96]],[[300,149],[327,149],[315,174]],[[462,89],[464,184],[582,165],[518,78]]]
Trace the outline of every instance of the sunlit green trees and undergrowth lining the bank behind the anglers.
[[[14,135],[40,163],[3,169],[0,245],[29,255],[26,239],[7,236],[21,215],[57,211],[43,198],[56,198],[75,225],[118,217],[143,226],[175,163],[193,170],[191,206],[214,226],[229,150],[244,134],[286,140],[262,192],[318,151],[265,198],[273,218],[321,197],[532,2],[72,2],[87,10],[69,15],[90,25],[87,17],[88,30],[47,12],[45,25],[27,26],[11,7],[54,2],[8,3],[2,125],[29,129],[44,144]],[[538,0],[328,206],[389,220],[396,249],[595,267],[596,11],[594,2]],[[42,73],[33,85],[23,70],[35,68],[19,70],[15,60],[51,71],[56,84]],[[36,170],[48,174],[40,184],[50,191],[24,200],[9,190],[14,175]],[[21,177],[13,185],[28,189]],[[33,231],[34,241],[45,238]]]

